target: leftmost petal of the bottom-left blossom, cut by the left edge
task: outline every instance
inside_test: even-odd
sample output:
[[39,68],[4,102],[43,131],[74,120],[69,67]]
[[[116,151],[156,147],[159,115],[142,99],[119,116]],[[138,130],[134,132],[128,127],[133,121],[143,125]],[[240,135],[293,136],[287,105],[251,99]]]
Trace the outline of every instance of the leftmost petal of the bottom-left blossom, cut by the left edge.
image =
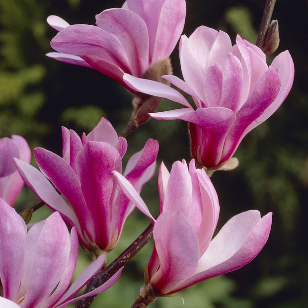
[[27,230],[21,217],[1,198],[0,213],[0,277],[3,296],[16,302]]

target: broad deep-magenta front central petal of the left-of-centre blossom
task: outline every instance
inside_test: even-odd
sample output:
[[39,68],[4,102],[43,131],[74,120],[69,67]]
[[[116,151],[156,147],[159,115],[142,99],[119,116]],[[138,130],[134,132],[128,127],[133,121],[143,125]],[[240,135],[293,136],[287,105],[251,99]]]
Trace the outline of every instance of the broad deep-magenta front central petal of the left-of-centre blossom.
[[[82,195],[88,206],[88,217],[93,224],[91,236],[95,238],[92,241],[103,249],[115,231],[110,230],[113,211],[120,210],[113,209],[112,201],[118,183],[112,171],[122,172],[121,157],[108,143],[90,141],[79,151],[76,163]],[[125,213],[126,208],[123,206],[121,211]]]

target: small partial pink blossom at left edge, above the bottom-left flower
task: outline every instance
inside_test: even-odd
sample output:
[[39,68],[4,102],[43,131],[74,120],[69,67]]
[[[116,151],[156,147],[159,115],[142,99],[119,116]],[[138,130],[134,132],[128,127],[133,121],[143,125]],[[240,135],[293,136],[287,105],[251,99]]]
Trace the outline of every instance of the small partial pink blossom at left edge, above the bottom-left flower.
[[18,135],[0,139],[0,198],[13,206],[22,186],[23,180],[18,174],[13,157],[29,163],[31,150],[26,140]]

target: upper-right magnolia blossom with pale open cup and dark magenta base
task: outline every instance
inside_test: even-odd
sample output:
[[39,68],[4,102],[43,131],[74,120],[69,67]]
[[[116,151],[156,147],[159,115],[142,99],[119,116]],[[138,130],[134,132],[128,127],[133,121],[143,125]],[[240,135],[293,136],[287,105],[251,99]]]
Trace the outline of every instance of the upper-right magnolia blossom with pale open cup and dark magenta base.
[[163,76],[192,96],[194,108],[175,89],[152,80],[124,75],[136,91],[168,98],[185,108],[152,113],[159,120],[189,122],[191,154],[196,162],[219,168],[234,154],[244,136],[267,120],[288,95],[294,64],[288,51],[268,67],[255,45],[223,31],[201,26],[181,37],[180,62],[184,80]]

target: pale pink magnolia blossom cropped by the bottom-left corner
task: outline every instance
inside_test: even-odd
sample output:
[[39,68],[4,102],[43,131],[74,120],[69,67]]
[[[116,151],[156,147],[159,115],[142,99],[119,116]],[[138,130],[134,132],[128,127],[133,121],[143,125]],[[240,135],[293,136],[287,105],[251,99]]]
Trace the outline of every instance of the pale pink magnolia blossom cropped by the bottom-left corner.
[[[76,228],[70,236],[56,212],[27,231],[24,221],[3,199],[0,213],[0,306],[64,308],[83,298],[74,296],[101,269],[105,256],[92,262],[69,288],[78,257]],[[92,295],[110,288],[121,271]]]

